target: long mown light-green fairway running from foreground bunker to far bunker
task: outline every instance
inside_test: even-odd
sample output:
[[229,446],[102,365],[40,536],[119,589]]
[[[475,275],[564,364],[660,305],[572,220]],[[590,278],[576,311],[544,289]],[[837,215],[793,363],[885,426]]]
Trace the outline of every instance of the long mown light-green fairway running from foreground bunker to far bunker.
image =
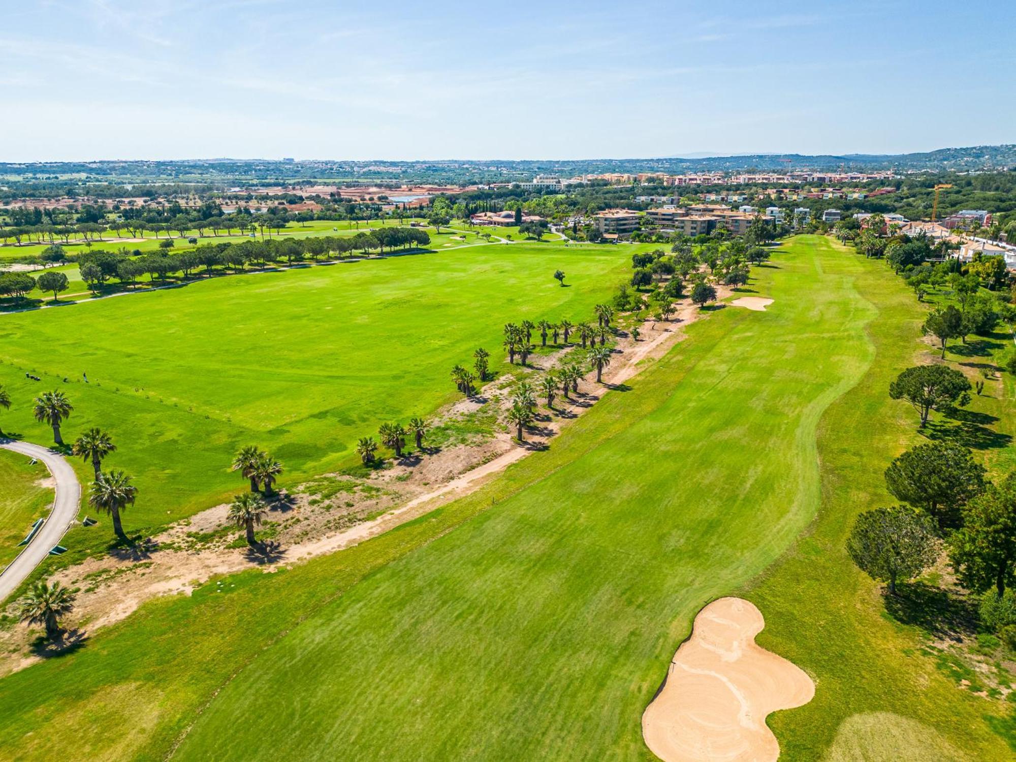
[[877,314],[837,256],[803,245],[759,270],[770,311],[693,326],[523,466],[546,475],[260,655],[177,757],[647,758],[641,711],[694,613],[817,508],[816,427],[871,362]]

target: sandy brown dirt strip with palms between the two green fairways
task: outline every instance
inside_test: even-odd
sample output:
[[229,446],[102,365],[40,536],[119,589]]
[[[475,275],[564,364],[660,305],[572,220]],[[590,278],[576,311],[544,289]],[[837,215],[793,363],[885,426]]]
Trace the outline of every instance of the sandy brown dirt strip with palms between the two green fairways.
[[[721,294],[728,296],[722,290]],[[232,533],[217,546],[188,546],[186,538],[194,532],[213,532],[226,526],[227,506],[215,506],[168,528],[153,537],[147,548],[89,559],[61,570],[54,579],[80,588],[74,618],[81,626],[94,631],[127,617],[151,597],[189,593],[213,576],[257,567],[270,569],[292,565],[358,545],[469,494],[512,463],[545,449],[563,426],[589,409],[610,386],[628,381],[641,370],[643,363],[665,355],[684,337],[686,325],[707,314],[690,303],[682,304],[673,320],[643,323],[640,340],[632,340],[628,333],[619,335],[616,360],[604,370],[604,384],[595,383],[593,373],[587,374],[580,380],[573,400],[559,398],[553,410],[541,412],[539,420],[521,445],[509,433],[502,432],[493,440],[449,447],[415,464],[397,465],[370,480],[369,489],[388,495],[370,503],[371,508],[380,506],[383,509],[375,518],[338,530],[326,530],[327,523],[317,525],[316,529],[311,524],[311,529],[302,532],[297,542],[282,543],[282,547],[267,554],[225,547],[227,541],[235,536]],[[563,359],[571,348],[562,348],[554,357],[534,357],[533,361]],[[459,400],[437,418],[469,414],[485,404],[503,407],[508,402],[507,396],[505,379],[497,379],[482,389],[477,398]],[[303,502],[297,509],[283,507],[277,513],[273,509],[271,519],[284,523],[288,516],[304,515],[301,509],[308,508],[307,497],[300,496]],[[331,515],[328,511],[323,513]],[[111,594],[114,590],[115,594]],[[14,628],[0,633],[0,653],[9,654],[0,655],[0,674],[33,662],[34,657],[25,659],[19,655],[23,649],[18,646],[26,632],[24,628]]]

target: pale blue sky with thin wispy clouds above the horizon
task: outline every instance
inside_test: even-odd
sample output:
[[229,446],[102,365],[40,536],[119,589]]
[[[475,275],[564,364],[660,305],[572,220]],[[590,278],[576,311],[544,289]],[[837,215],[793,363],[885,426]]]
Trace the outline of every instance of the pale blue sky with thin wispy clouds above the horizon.
[[0,0],[0,161],[1016,141],[1012,0]]

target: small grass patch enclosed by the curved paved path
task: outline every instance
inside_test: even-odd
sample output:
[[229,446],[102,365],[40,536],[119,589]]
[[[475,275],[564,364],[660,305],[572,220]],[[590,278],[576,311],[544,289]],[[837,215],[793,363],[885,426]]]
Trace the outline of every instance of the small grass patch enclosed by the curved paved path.
[[17,544],[53,503],[53,490],[38,484],[49,477],[46,466],[28,463],[24,455],[0,450],[0,570],[17,556]]

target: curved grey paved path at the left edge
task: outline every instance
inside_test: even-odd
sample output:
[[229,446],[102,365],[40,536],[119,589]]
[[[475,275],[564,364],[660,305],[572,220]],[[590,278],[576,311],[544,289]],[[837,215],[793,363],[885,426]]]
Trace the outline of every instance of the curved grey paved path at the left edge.
[[[29,442],[10,439],[0,439],[0,447],[42,460],[57,482],[53,510],[46,517],[39,533],[21,550],[21,555],[0,572],[0,601],[3,601],[35,571],[49,555],[53,546],[59,544],[70,528],[80,507],[81,485],[70,463],[58,452]],[[27,531],[28,527],[24,527],[24,530]]]

